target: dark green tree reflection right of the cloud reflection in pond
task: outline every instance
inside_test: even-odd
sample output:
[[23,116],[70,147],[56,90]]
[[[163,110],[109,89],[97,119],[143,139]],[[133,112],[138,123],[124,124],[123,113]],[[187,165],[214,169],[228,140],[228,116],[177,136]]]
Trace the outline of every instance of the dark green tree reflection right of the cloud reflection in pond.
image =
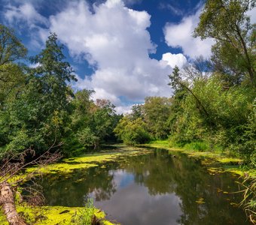
[[[178,223],[246,224],[243,211],[227,201],[233,201],[237,194],[217,191],[236,191],[230,175],[209,175],[197,161],[182,154],[172,157],[163,150],[154,151],[154,156],[130,157],[127,164],[126,169],[133,173],[136,183],[148,187],[151,195],[175,193],[179,196],[183,214]],[[199,199],[204,203],[199,204]]]

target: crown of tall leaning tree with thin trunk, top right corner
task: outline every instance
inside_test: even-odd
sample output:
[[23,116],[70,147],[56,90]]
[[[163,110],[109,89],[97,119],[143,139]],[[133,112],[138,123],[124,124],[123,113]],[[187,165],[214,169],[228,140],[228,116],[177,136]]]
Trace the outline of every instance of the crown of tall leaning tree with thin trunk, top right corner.
[[214,38],[215,61],[217,59],[233,72],[246,72],[255,87],[255,27],[246,16],[254,4],[253,0],[206,1],[194,36]]

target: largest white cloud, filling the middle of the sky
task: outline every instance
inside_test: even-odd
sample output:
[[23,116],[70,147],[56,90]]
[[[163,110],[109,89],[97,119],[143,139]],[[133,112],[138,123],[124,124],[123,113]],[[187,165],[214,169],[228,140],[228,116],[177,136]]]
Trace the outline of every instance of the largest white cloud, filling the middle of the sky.
[[[147,28],[151,16],[123,5],[123,1],[108,0],[89,10],[85,1],[72,2],[66,10],[50,17],[50,30],[68,46],[73,56],[84,55],[96,71],[90,85],[96,91],[93,98],[108,98],[123,107],[127,101],[143,101],[145,96],[170,96],[171,89],[166,63],[149,58],[156,46],[151,43]],[[78,81],[87,88],[88,80]]]

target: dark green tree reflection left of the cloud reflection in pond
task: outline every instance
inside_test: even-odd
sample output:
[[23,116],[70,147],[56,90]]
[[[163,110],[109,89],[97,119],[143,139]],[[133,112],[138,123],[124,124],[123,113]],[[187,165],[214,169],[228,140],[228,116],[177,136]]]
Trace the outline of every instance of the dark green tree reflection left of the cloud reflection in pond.
[[113,177],[108,173],[111,164],[77,170],[68,175],[48,175],[39,183],[43,186],[47,205],[82,206],[93,193],[96,201],[109,199],[116,191]]

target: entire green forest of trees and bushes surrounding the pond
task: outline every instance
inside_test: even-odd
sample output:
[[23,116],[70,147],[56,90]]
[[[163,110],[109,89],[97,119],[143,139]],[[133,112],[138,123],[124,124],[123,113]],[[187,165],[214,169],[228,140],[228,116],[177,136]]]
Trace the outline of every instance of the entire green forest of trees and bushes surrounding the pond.
[[193,35],[215,40],[212,57],[176,66],[166,74],[170,98],[149,96],[124,115],[108,99],[93,101],[93,90],[72,89],[75,71],[55,33],[28,56],[16,31],[0,24],[0,160],[26,149],[73,157],[116,142],[167,140],[174,148],[239,157],[254,168],[256,26],[246,16],[252,7],[254,1],[206,1]]

